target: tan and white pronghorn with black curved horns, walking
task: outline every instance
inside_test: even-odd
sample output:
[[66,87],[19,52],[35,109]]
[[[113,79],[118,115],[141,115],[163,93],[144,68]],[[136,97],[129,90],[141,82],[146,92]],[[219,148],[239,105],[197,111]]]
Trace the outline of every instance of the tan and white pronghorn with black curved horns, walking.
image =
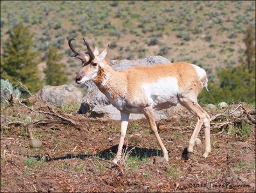
[[85,54],[88,56],[86,56],[77,52],[71,43],[72,40],[76,39],[68,40],[68,45],[73,52],[72,57],[81,59],[83,65],[82,70],[76,76],[77,84],[93,81],[121,113],[121,137],[113,162],[117,163],[121,158],[130,113],[145,114],[161,146],[163,157],[168,161],[168,151],[157,132],[153,109],[167,109],[177,104],[183,105],[198,118],[189,140],[187,153],[193,152],[195,139],[204,125],[204,157],[209,155],[211,152],[210,117],[197,102],[200,91],[204,87],[207,89],[208,80],[204,69],[185,62],[175,62],[167,65],[134,66],[116,72],[106,59],[108,47],[100,54],[96,47],[93,52],[83,38],[87,47]]

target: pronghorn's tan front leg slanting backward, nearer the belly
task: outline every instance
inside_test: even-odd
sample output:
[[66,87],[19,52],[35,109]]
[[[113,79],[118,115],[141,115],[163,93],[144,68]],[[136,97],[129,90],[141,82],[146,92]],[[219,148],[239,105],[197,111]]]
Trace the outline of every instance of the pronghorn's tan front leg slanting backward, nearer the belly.
[[159,143],[159,145],[161,146],[161,150],[163,151],[163,155],[164,155],[164,159],[168,162],[169,161],[169,157],[168,157],[168,151],[166,150],[166,148],[164,147],[163,142],[161,141],[161,138],[157,132],[157,127],[156,127],[156,122],[154,120],[154,116],[153,116],[153,110],[151,107],[146,107],[144,109],[142,109],[143,113],[145,114],[145,117],[148,120],[148,123],[150,125],[150,128],[152,129],[152,131],[154,132],[154,134],[156,135],[156,139]]

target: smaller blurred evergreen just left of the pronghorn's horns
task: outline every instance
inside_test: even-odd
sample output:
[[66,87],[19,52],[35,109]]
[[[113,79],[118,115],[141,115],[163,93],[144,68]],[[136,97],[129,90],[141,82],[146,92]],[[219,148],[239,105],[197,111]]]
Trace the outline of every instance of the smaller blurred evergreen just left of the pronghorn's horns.
[[67,82],[67,72],[65,70],[65,64],[59,63],[61,60],[61,54],[58,50],[49,47],[49,55],[47,57],[45,73],[45,84],[51,86],[58,86]]

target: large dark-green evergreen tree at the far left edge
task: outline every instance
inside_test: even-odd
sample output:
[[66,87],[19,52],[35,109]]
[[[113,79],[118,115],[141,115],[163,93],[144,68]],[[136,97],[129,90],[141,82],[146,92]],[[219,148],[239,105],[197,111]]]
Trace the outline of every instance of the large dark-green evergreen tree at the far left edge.
[[33,34],[29,28],[22,23],[13,27],[9,38],[3,43],[1,78],[8,79],[13,84],[20,81],[29,91],[35,92],[42,84],[38,72],[39,61],[36,60],[39,52],[33,52],[32,46]]

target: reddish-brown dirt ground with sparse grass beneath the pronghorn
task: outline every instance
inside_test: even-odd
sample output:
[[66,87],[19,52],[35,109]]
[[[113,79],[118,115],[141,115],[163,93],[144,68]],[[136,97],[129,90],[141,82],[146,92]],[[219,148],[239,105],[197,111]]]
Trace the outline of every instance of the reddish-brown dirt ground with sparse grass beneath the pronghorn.
[[[49,111],[36,100],[29,106]],[[246,111],[255,109],[255,105],[243,106]],[[228,111],[202,107],[210,116]],[[131,120],[124,146],[129,153],[118,167],[104,160],[111,161],[117,151],[120,121],[90,120],[68,108],[54,107],[54,111],[82,125],[81,130],[68,124],[36,125],[33,136],[43,145],[31,148],[26,127],[7,122],[54,118],[18,104],[1,107],[1,192],[255,192],[255,126],[248,120],[237,118],[221,128],[211,125],[208,158],[202,157],[202,129],[198,135],[202,144],[195,146],[188,160],[182,152],[196,118],[180,109],[170,119],[158,121],[159,135],[169,152],[168,164],[161,159],[147,121]],[[222,117],[214,123],[225,121]]]

